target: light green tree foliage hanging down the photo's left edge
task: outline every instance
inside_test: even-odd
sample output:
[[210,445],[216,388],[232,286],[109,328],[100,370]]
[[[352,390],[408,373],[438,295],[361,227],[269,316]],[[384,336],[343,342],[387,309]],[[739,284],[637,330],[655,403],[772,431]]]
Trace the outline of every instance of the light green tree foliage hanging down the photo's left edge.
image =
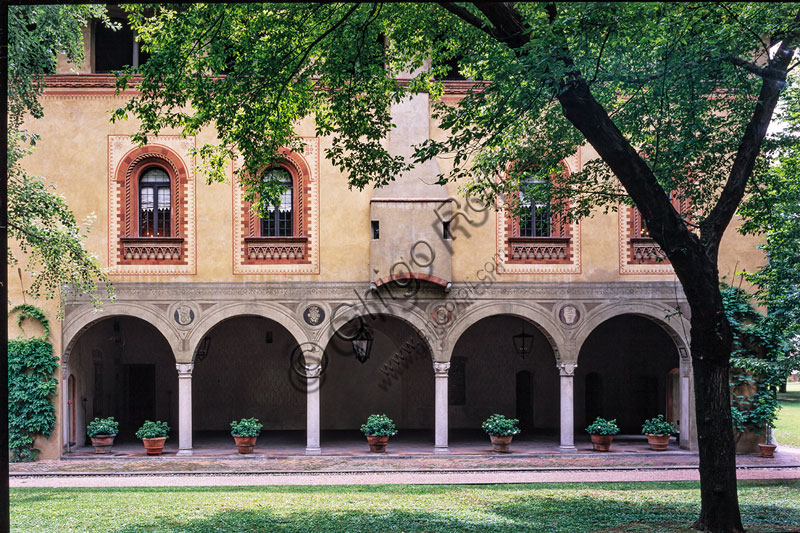
[[[22,129],[24,121],[43,117],[39,102],[46,78],[56,73],[57,56],[83,61],[83,33],[92,17],[105,19],[100,5],[9,6],[8,24],[8,235],[27,255],[32,276],[27,292],[53,298],[64,286],[91,294],[100,303],[97,282],[108,277],[83,246],[92,220],[80,224],[64,198],[21,164],[39,136]],[[9,250],[8,263],[17,258]],[[107,285],[108,286],[108,285]]]

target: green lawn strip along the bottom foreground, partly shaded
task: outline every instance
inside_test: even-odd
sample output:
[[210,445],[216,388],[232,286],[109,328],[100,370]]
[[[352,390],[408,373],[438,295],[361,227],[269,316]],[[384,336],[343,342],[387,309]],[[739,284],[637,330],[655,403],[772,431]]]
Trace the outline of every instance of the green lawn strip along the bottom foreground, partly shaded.
[[[800,481],[742,482],[748,531],[800,531]],[[698,484],[15,488],[13,531],[691,531]]]

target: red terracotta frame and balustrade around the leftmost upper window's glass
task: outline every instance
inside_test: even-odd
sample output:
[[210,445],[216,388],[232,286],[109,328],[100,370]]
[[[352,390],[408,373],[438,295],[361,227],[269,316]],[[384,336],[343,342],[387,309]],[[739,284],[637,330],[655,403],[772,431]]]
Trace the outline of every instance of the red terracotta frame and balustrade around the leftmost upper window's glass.
[[[150,169],[166,172],[170,183],[169,237],[143,237],[140,229],[141,178]],[[188,169],[182,158],[163,146],[142,146],[128,153],[119,166],[116,180],[120,190],[121,219],[118,264],[186,265]]]

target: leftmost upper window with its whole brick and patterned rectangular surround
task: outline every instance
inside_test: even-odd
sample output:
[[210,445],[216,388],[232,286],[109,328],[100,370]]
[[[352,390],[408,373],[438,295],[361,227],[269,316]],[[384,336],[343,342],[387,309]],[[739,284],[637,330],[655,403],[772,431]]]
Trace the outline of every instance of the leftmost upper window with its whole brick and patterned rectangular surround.
[[118,274],[193,274],[193,139],[109,137],[109,263]]

